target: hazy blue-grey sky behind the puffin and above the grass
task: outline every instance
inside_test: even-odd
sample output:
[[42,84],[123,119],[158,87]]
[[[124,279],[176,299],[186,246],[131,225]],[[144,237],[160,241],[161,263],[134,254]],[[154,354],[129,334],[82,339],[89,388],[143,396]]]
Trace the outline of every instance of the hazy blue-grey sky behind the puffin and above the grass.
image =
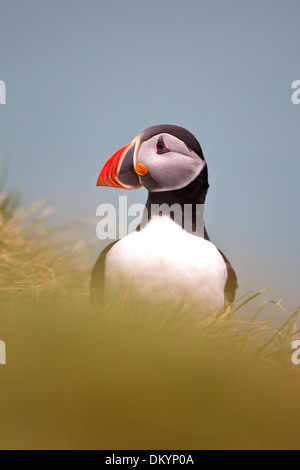
[[[299,0],[0,0],[0,164],[53,223],[146,190],[96,188],[143,129],[190,130],[206,157],[205,219],[239,293],[299,294]],[[96,239],[96,222],[84,234]],[[94,245],[93,245],[94,246]],[[99,242],[100,250],[100,242]]]

